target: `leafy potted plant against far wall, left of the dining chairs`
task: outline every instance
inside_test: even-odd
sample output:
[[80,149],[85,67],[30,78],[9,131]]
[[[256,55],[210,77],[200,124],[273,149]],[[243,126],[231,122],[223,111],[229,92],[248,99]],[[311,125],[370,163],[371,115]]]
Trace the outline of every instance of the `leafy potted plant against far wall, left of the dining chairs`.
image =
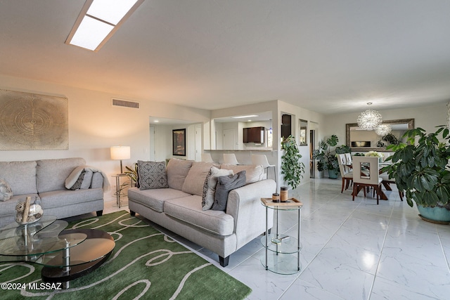
[[[312,152],[312,158],[317,160],[317,169],[319,171],[328,170],[329,178],[338,178],[339,174],[339,163],[337,154],[350,153],[350,148],[347,145],[338,145],[339,138],[334,134],[326,139],[326,141],[321,141],[319,149]],[[333,149],[333,147],[335,147]]]

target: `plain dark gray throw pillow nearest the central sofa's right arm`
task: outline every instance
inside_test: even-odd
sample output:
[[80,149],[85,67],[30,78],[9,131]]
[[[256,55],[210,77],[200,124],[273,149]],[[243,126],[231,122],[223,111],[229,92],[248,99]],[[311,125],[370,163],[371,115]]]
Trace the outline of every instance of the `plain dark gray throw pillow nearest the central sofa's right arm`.
[[212,210],[226,210],[228,194],[235,188],[245,185],[245,171],[229,176],[219,176],[217,178],[216,195],[214,195],[214,204]]

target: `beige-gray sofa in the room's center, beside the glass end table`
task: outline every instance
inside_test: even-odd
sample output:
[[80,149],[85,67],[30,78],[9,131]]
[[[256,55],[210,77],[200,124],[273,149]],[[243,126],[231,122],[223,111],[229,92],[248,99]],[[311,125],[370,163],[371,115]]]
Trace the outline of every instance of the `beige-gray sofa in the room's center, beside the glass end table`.
[[[271,197],[276,183],[264,179],[262,166],[216,165],[170,159],[165,174],[147,176],[150,181],[164,185],[146,188],[140,186],[128,190],[131,216],[138,213],[146,219],[171,230],[219,255],[221,266],[227,266],[229,256],[258,237],[266,230],[266,209],[262,197]],[[233,189],[226,199],[224,210],[207,207],[205,195],[214,193],[213,170],[229,170],[231,174],[245,171],[245,185]],[[138,163],[139,183],[141,166]],[[229,175],[231,177],[231,175]],[[145,178],[144,178],[145,179]],[[217,192],[219,192],[217,185]],[[220,208],[219,208],[220,209]],[[268,226],[273,226],[273,211],[269,209]]]

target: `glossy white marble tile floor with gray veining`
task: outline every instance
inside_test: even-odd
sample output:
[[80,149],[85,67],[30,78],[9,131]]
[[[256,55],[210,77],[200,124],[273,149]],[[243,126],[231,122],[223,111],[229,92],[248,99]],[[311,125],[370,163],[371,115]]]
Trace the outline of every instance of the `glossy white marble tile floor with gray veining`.
[[[340,184],[313,179],[290,191],[304,204],[302,270],[294,275],[265,270],[261,237],[221,268],[216,254],[153,225],[251,287],[248,299],[450,299],[450,226],[422,221],[395,188],[376,205],[362,193],[353,202]],[[105,202],[105,214],[117,210]],[[297,236],[296,212],[282,214],[279,232]]]

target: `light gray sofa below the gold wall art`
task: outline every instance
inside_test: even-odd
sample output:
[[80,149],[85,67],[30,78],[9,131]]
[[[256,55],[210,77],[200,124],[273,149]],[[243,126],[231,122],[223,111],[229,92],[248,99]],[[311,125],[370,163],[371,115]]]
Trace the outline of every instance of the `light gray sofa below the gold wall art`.
[[[70,190],[65,180],[77,167],[84,166],[82,158],[41,159],[26,162],[0,162],[0,179],[13,191],[10,200],[0,201],[0,226],[14,222],[18,200],[31,196],[41,199],[44,215],[58,219],[96,211],[103,213],[103,184],[101,172],[93,172],[85,188]],[[106,186],[106,185],[105,185]],[[109,183],[108,183],[109,186]]]

